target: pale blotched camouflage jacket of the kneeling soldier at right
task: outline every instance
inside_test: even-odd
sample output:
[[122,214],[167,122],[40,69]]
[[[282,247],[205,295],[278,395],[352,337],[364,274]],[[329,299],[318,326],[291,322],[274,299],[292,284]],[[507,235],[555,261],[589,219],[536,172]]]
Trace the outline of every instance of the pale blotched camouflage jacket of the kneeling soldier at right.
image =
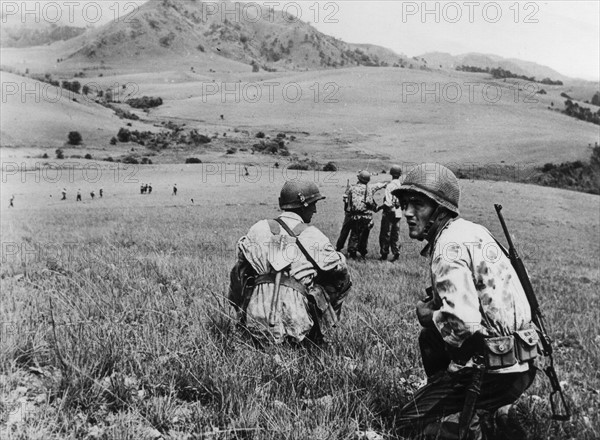
[[[531,308],[519,278],[483,226],[461,218],[450,220],[422,255],[430,258],[433,299],[438,305],[433,322],[446,344],[460,349],[477,331],[508,336],[531,323]],[[527,364],[516,364],[496,372],[525,370]]]

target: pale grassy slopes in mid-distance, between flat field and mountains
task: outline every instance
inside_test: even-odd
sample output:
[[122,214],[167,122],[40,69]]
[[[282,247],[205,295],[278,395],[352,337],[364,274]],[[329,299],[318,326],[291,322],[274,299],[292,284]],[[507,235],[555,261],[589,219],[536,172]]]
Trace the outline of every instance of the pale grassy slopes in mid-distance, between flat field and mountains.
[[[223,153],[230,146],[249,149],[261,130],[272,136],[287,132],[299,137],[289,146],[292,153],[333,160],[349,169],[424,160],[468,166],[543,165],[587,160],[588,146],[599,141],[593,124],[549,110],[563,106],[563,88],[545,86],[547,94],[540,95],[531,84],[495,81],[484,74],[392,67],[283,73],[181,69],[80,81],[161,97],[163,105],[141,114],[146,127],[155,129],[153,124],[167,120],[186,123],[217,136],[215,145]],[[80,105],[81,101],[52,104],[11,97],[2,116],[3,145],[41,146],[39,139],[44,139],[56,148],[64,143],[68,125],[85,132],[88,145],[110,149],[111,137],[130,121],[118,120],[98,106],[92,110]],[[90,111],[93,116],[85,117]],[[57,115],[64,115],[64,122]],[[26,120],[35,130],[28,129]],[[248,134],[240,136],[239,131]],[[117,148],[126,152],[131,145]],[[172,146],[155,159],[160,162],[166,155],[163,161],[177,161],[176,150]],[[203,156],[208,150],[181,154],[212,158]],[[233,155],[228,160],[265,158]]]

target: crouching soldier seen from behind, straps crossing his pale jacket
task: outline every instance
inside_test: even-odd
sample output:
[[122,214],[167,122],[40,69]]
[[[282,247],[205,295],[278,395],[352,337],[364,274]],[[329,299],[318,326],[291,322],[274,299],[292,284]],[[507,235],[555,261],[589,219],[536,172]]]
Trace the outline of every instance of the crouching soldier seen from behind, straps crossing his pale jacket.
[[351,286],[346,260],[309,226],[324,198],[312,182],[288,181],[279,217],[259,221],[238,241],[229,300],[259,343],[319,343],[340,318]]

